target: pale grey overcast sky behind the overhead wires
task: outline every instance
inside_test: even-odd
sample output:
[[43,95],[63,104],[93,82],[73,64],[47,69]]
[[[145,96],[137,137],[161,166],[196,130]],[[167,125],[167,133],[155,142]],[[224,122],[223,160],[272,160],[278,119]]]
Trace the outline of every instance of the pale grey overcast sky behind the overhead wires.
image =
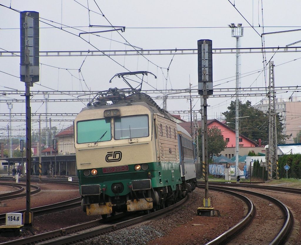
[[[96,5],[96,3],[97,5]],[[242,48],[260,48],[263,32],[276,32],[300,29],[299,1],[99,1],[99,0],[53,0],[53,1],[16,1],[1,0],[0,3],[17,11],[37,11],[40,20],[40,51],[87,51],[89,50],[132,50],[124,43],[145,49],[192,49],[197,48],[197,40],[211,39],[213,48],[235,48],[235,38],[231,37],[230,23],[242,23],[244,36],[241,38]],[[82,4],[83,6],[81,6]],[[99,8],[98,8],[99,7]],[[88,9],[90,11],[88,11]],[[20,51],[20,14],[12,9],[0,6],[0,48],[8,51]],[[239,13],[239,12],[241,13]],[[101,14],[102,13],[102,14]],[[104,16],[105,17],[104,17]],[[243,16],[242,16],[243,15]],[[254,26],[250,27],[249,23]],[[53,22],[51,22],[53,21]],[[109,21],[109,22],[108,22]],[[50,24],[50,25],[49,25]],[[88,28],[90,25],[125,26],[125,32],[114,31],[95,35],[81,35],[80,32],[104,30]],[[260,27],[259,27],[260,25]],[[58,28],[54,28],[56,26]],[[64,26],[76,27],[64,28]],[[262,29],[262,26],[264,29]],[[61,29],[62,27],[62,29]],[[194,28],[193,28],[194,27]],[[107,28],[108,30],[111,28]],[[289,32],[266,35],[265,47],[284,47],[301,40],[301,32]],[[294,45],[301,46],[299,44]],[[274,56],[273,56],[274,55]],[[273,57],[272,57],[273,56]],[[275,64],[275,86],[299,85],[301,54],[267,53],[266,60]],[[85,61],[84,61],[85,60]],[[172,60],[172,61],[171,61]],[[83,63],[84,61],[84,63]],[[241,54],[241,87],[265,87],[262,54]],[[197,55],[145,55],[145,56],[88,56],[88,57],[40,57],[40,81],[32,91],[59,90],[101,91],[110,87],[126,87],[121,79],[109,80],[121,72],[148,70],[157,76],[149,76],[142,89],[184,89],[197,87]],[[49,67],[55,66],[59,68]],[[170,65],[170,66],[169,66]],[[1,57],[0,59],[0,91],[24,90],[20,82],[19,57]],[[81,67],[81,74],[78,69]],[[68,70],[66,70],[68,69]],[[11,76],[5,73],[17,76]],[[251,74],[246,76],[247,74]],[[268,74],[268,73],[266,73]],[[83,76],[83,77],[82,77]],[[79,80],[80,78],[81,80]],[[85,82],[82,81],[82,78]],[[268,79],[268,76],[267,78]],[[219,85],[221,84],[221,85]],[[235,54],[213,54],[214,88],[235,88]],[[8,87],[8,88],[5,88]],[[152,88],[153,87],[153,88]],[[9,89],[11,88],[11,89]],[[218,93],[217,93],[218,94]],[[288,98],[292,92],[283,91],[278,97]],[[293,96],[298,96],[294,92]],[[20,95],[1,96],[4,99],[24,99]],[[43,96],[36,95],[39,99]],[[50,96],[50,98],[74,98],[68,95]],[[242,96],[241,100],[258,103],[262,97]],[[209,98],[208,117],[216,118],[227,110],[234,98]],[[162,107],[162,100],[157,100]],[[193,100],[194,109],[200,109],[200,100]],[[45,113],[45,104],[31,103],[32,112]],[[78,102],[48,103],[49,113],[78,113],[84,104]],[[168,100],[167,109],[189,110],[186,99]],[[8,106],[0,103],[0,113],[8,113]],[[13,113],[25,113],[25,104],[14,103]],[[188,114],[181,115],[188,120]],[[4,119],[4,117],[1,117]],[[20,118],[20,117],[17,117]],[[24,118],[23,118],[24,119]],[[70,118],[69,118],[70,119]],[[0,122],[0,133],[8,122]],[[25,122],[13,122],[13,129],[24,128]],[[64,128],[71,122],[53,122],[52,126]],[[33,123],[36,129],[37,123]],[[43,126],[43,125],[42,125]],[[44,123],[45,126],[45,123]],[[23,133],[14,131],[13,135]],[[3,135],[3,134],[2,134]],[[1,135],[0,135],[1,136]]]

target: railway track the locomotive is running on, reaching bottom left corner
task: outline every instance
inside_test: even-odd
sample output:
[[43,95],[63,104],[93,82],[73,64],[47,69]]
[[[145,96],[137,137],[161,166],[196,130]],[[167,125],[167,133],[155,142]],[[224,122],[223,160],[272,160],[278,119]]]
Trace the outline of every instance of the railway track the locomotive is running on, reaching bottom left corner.
[[[10,242],[1,243],[1,245],[8,245],[8,244],[26,245],[26,244],[33,244],[33,243],[35,245],[42,245],[42,244],[60,245],[60,244],[72,243],[82,239],[87,239],[90,237],[94,237],[107,232],[116,231],[131,225],[138,224],[147,219],[151,219],[155,216],[162,215],[165,212],[169,212],[170,210],[181,206],[187,200],[188,200],[188,196],[182,199],[181,201],[179,201],[178,203],[175,203],[164,209],[160,209],[158,211],[151,212],[143,216],[138,216],[133,219],[128,219],[122,222],[116,222],[116,219],[119,219],[120,217],[124,216],[124,214],[119,214],[113,217],[111,216],[112,218],[109,217],[106,220],[106,224],[104,224],[103,219],[97,219],[95,221],[86,222],[83,224],[74,225],[67,228],[62,228],[56,231],[50,231],[47,233],[37,234],[31,237],[24,237]],[[107,222],[110,223],[107,224]]]

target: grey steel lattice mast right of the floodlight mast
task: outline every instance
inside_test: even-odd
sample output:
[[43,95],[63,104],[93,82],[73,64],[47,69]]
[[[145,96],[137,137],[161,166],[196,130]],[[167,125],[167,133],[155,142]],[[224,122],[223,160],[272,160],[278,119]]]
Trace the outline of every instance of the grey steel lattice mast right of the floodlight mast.
[[269,62],[268,85],[268,179],[279,179],[277,155],[277,113],[274,81],[274,61]]

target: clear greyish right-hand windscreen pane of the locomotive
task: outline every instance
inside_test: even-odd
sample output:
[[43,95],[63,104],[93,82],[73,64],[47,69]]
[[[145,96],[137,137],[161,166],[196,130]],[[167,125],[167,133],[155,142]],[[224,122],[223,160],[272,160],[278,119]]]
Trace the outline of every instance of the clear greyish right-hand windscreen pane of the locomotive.
[[116,140],[147,136],[149,136],[147,115],[114,118],[114,138]]

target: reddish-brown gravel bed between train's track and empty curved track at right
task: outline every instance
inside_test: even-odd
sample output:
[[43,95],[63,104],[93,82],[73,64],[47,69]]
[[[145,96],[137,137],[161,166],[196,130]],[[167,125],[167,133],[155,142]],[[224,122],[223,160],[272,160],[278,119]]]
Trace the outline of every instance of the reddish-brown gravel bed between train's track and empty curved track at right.
[[210,192],[210,196],[213,207],[221,213],[220,217],[197,216],[197,207],[203,205],[204,197],[204,190],[197,188],[190,194],[188,202],[164,216],[76,244],[205,244],[236,225],[246,215],[246,207],[239,199],[214,191]]

